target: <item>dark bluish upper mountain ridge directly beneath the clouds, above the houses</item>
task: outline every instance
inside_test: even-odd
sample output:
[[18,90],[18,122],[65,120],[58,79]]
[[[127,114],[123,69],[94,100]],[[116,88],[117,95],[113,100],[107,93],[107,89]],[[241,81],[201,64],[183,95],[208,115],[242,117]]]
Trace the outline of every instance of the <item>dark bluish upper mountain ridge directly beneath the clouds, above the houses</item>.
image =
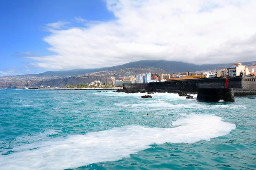
[[[244,65],[251,65],[256,61],[242,62]],[[81,74],[99,72],[99,71],[116,71],[125,68],[159,68],[169,73],[186,72],[186,71],[207,71],[218,70],[221,68],[229,67],[233,65],[232,62],[225,64],[204,64],[196,65],[188,62],[167,61],[167,60],[140,60],[137,62],[128,62],[123,65],[116,65],[112,67],[104,68],[92,68],[92,69],[72,69],[67,71],[46,71],[38,74],[23,74],[17,76],[5,76],[5,77],[21,77],[21,76],[35,76],[35,77],[69,77]],[[3,77],[1,77],[3,78]]]

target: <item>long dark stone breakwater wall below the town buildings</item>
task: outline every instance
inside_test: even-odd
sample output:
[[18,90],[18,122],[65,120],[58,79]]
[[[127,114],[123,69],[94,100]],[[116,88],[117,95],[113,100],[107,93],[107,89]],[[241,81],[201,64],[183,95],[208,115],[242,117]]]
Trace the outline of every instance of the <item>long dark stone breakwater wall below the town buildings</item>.
[[[255,77],[230,77],[228,88],[234,89],[235,96],[256,94]],[[226,78],[205,78],[205,79],[180,79],[165,82],[151,82],[148,84],[124,84],[123,91],[126,92],[168,92],[183,91],[189,94],[197,94],[199,88],[225,88]]]

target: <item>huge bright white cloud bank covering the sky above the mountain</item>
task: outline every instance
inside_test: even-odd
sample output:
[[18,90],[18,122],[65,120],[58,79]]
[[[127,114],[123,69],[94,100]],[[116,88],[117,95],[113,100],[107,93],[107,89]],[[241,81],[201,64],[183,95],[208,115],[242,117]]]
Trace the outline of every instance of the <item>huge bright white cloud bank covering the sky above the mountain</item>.
[[106,6],[115,20],[75,18],[86,27],[50,30],[44,41],[56,55],[29,57],[37,61],[33,65],[59,70],[142,59],[196,64],[256,59],[255,0],[107,0]]

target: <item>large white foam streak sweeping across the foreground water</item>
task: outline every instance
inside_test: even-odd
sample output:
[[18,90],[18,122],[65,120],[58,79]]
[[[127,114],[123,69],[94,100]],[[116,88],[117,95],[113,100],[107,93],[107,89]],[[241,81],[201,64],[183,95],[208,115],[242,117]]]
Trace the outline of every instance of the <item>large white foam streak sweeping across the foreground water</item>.
[[223,122],[218,116],[196,114],[178,119],[172,125],[177,127],[148,128],[130,125],[23,144],[12,149],[16,153],[1,155],[0,167],[12,170],[63,170],[130,157],[130,154],[150,148],[154,143],[193,143],[210,140],[227,135],[230,130],[236,128],[236,125]]

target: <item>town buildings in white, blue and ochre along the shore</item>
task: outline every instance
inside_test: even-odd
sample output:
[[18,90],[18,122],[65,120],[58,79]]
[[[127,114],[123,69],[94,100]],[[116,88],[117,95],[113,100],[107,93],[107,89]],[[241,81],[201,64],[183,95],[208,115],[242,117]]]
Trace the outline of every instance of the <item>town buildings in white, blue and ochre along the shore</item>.
[[[213,77],[236,77],[242,72],[245,76],[256,77],[256,64],[251,66],[242,65],[240,62],[234,63],[228,68],[223,68],[216,72],[184,72],[184,73],[172,73],[172,74],[136,74],[128,75],[125,77],[115,78],[113,76],[107,77],[105,82],[95,80],[90,84],[84,85],[66,85],[65,88],[122,88],[123,84],[134,84],[134,83],[150,83],[150,82],[165,82],[172,80],[183,80],[183,79],[202,79],[202,78],[213,78]],[[41,86],[39,88],[51,88]],[[57,88],[57,87],[55,87]]]

